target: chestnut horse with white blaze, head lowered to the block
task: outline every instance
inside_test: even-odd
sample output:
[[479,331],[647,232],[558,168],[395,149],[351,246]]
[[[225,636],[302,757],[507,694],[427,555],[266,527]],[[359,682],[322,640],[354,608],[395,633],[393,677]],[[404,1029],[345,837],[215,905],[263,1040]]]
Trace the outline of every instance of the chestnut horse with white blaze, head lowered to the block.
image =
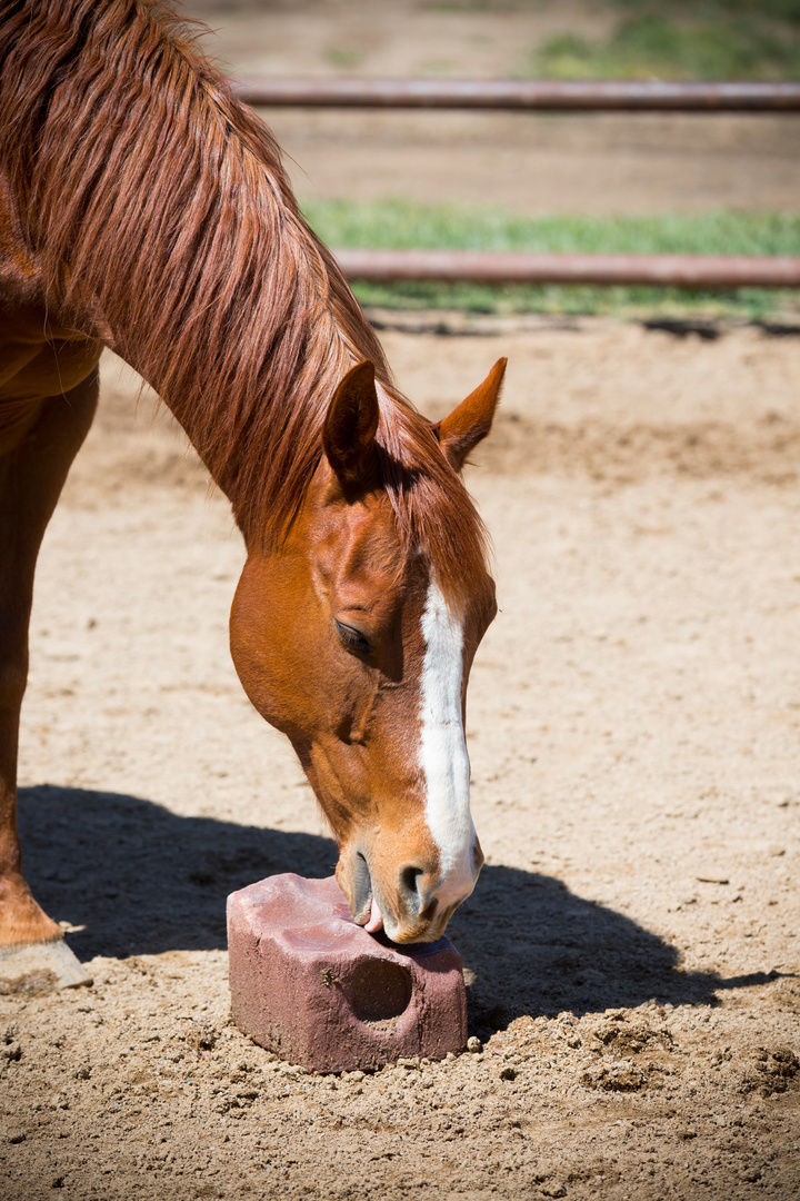
[[[112,347],[230,500],[236,670],[290,739],[353,918],[438,938],[477,878],[464,695],[495,613],[445,420],[392,384],[266,127],[155,0],[0,0],[0,949],[61,936],[22,872],[34,569]],[[0,973],[2,974],[2,973]]]

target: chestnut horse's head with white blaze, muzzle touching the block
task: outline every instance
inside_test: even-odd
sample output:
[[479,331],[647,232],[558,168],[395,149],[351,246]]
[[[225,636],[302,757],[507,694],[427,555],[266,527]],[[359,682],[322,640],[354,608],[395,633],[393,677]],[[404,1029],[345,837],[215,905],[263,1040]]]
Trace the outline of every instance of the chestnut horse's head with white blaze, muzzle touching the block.
[[[438,425],[410,411],[426,450],[402,467],[409,488],[435,471],[463,494],[504,370]],[[443,933],[483,862],[464,705],[497,605],[482,556],[445,579],[437,545],[403,531],[399,468],[379,438],[387,399],[371,363],[342,380],[300,510],[279,546],[248,546],[230,634],[247,695],[290,739],[333,830],[354,920],[410,943]]]

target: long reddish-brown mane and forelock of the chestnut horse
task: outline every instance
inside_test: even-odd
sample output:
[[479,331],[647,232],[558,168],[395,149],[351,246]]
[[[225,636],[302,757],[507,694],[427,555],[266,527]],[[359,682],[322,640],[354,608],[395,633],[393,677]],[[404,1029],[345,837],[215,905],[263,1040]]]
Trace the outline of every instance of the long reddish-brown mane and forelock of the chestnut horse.
[[395,388],[266,126],[157,0],[0,0],[0,167],[47,304],[156,388],[248,542],[279,543],[326,405],[372,359],[380,484],[451,599],[486,536],[431,424]]

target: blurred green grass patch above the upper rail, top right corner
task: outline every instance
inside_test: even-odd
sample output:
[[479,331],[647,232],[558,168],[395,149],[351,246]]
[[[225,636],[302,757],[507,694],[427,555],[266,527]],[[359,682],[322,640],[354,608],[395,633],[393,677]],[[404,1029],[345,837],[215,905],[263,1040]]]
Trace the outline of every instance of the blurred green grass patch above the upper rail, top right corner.
[[529,59],[529,73],[571,79],[800,79],[796,0],[616,0],[610,37],[565,31]]

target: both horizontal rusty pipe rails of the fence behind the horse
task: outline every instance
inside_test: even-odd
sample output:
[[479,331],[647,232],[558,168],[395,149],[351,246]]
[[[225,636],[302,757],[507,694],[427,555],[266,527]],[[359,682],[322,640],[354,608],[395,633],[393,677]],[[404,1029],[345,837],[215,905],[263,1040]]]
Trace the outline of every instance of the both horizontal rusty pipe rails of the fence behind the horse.
[[[245,103],[293,108],[415,108],[576,113],[800,113],[800,83],[558,79],[236,79]],[[354,280],[596,283],[678,288],[800,287],[800,258],[338,250]]]

